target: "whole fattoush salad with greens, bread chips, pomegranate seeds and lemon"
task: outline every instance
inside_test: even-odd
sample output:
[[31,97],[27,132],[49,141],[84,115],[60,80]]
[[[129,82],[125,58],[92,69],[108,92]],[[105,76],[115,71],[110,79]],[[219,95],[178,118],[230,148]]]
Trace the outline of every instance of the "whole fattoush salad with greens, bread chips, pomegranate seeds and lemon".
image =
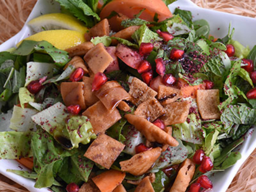
[[162,0],[56,0],[0,52],[0,157],[35,188],[198,192],[256,123],[256,46]]

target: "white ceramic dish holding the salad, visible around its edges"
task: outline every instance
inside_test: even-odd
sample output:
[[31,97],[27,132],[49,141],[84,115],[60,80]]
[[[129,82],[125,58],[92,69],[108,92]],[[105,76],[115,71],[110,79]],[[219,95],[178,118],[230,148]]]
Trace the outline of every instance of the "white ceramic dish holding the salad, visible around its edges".
[[[233,15],[224,12],[212,11],[208,9],[199,8],[194,3],[189,0],[178,0],[169,6],[169,9],[174,12],[174,9],[179,7],[184,10],[190,10],[193,14],[193,18],[197,19],[206,19],[210,24],[210,34],[215,37],[224,37],[228,31],[228,25],[231,22],[232,27],[236,29],[233,38],[240,41],[243,45],[249,46],[252,48],[256,45],[256,38],[254,34],[256,32],[256,19],[249,18],[239,15]],[[41,14],[59,12],[59,6],[53,0],[38,0],[34,9],[32,10],[28,21],[32,18],[35,18]],[[14,37],[4,42],[0,46],[0,51],[5,51],[11,47],[14,47],[17,42],[23,38],[29,36],[31,30],[27,25],[16,34]],[[239,170],[239,167],[243,162],[249,157],[256,147],[256,132],[250,130],[245,136],[245,142],[238,147],[238,150],[242,154],[242,159],[240,159],[236,165],[228,168],[225,172],[215,174],[214,177],[211,177],[212,182],[214,183],[213,191],[215,192],[225,192],[231,183],[233,177]],[[49,192],[51,190],[47,188],[36,189],[34,188],[34,181],[31,179],[26,179],[15,174],[6,172],[6,169],[23,169],[27,170],[25,167],[20,165],[15,160],[0,160],[0,173],[6,177],[12,179],[13,181],[23,185],[30,191],[34,192]]]

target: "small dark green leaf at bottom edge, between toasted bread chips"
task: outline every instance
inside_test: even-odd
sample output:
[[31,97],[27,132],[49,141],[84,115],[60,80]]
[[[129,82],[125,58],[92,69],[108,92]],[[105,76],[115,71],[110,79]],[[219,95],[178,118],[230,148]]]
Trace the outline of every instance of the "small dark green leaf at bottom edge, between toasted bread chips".
[[170,178],[168,178],[162,170],[155,173],[156,180],[152,183],[152,186],[155,192],[160,192],[162,189],[167,188],[170,182]]

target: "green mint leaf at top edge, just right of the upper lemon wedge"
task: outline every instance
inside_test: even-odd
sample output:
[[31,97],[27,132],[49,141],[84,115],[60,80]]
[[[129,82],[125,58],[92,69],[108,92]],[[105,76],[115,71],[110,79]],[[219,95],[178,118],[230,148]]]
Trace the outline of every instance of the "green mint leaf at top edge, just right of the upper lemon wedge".
[[[89,7],[83,0],[56,0],[61,7],[68,10],[72,15],[82,20],[87,27],[93,27],[96,24],[96,20],[100,20],[100,17],[95,13],[91,7]],[[92,4],[94,5],[94,4]],[[95,9],[94,6],[92,6]]]

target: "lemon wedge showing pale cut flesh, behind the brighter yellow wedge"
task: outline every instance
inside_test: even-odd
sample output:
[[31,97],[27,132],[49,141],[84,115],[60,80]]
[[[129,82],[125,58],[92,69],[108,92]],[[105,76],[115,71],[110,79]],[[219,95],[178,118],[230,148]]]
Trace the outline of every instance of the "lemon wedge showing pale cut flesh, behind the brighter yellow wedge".
[[28,25],[38,33],[40,31],[56,30],[56,29],[68,29],[73,31],[79,31],[86,33],[88,28],[84,26],[77,18],[63,14],[63,13],[50,13],[36,17]]

